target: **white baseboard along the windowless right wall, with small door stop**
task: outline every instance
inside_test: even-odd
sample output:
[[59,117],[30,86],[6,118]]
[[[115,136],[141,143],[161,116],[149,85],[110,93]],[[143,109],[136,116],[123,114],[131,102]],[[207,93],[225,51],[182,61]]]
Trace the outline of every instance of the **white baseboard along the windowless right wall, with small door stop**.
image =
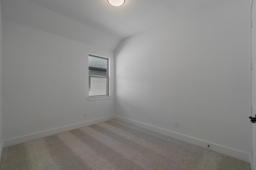
[[[200,139],[196,139],[196,138],[193,138],[193,137],[189,137],[189,136],[186,136],[186,135],[182,135],[182,134],[179,134],[179,133],[168,131],[166,129],[161,129],[159,127],[154,127],[154,126],[151,126],[151,125],[147,125],[145,123],[141,123],[141,122],[134,121],[134,120],[131,120],[131,119],[126,119],[124,117],[115,116],[115,119],[118,119],[120,121],[124,121],[126,123],[130,123],[132,125],[136,125],[138,127],[142,127],[144,129],[148,129],[148,130],[151,130],[151,131],[154,131],[154,132],[157,132],[157,133],[161,133],[163,135],[170,136],[170,137],[173,137],[175,139],[179,139],[179,140],[182,140],[182,141],[185,141],[185,142],[188,142],[188,143],[191,143],[191,144],[194,144],[194,145],[206,148],[206,149],[210,149],[210,150],[213,150],[213,151],[218,152],[218,153],[222,153],[222,154],[225,154],[225,155],[228,155],[228,156],[232,156],[234,158],[238,158],[238,159],[244,160],[246,162],[250,162],[250,154],[245,153],[245,152],[241,152],[241,151],[238,151],[238,150],[234,150],[234,149],[230,149],[230,148],[223,147],[223,146],[220,146],[220,145],[216,145],[214,143],[202,141]],[[209,148],[207,148],[208,145],[210,145]]]

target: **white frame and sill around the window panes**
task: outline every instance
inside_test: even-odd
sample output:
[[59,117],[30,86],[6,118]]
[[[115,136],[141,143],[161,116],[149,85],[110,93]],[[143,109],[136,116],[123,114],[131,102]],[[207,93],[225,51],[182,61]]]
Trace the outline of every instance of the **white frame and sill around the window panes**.
[[[89,73],[89,57],[96,57],[96,58],[100,58],[100,59],[106,59],[107,60],[107,69],[106,69],[106,76],[91,76]],[[93,55],[93,54],[89,54],[88,55],[88,81],[90,83],[90,78],[91,77],[95,77],[95,78],[106,78],[107,80],[107,94],[106,95],[98,95],[98,96],[90,96],[90,85],[88,86],[88,100],[102,100],[102,99],[109,99],[110,98],[110,90],[109,90],[109,69],[110,69],[110,59],[107,57],[102,57],[102,56],[98,56],[98,55]]]

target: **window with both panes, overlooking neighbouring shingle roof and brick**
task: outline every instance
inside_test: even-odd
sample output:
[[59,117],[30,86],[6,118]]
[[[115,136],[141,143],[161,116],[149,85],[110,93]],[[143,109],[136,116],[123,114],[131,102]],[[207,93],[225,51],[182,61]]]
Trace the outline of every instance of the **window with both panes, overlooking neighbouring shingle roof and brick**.
[[89,96],[108,96],[108,58],[89,55]]

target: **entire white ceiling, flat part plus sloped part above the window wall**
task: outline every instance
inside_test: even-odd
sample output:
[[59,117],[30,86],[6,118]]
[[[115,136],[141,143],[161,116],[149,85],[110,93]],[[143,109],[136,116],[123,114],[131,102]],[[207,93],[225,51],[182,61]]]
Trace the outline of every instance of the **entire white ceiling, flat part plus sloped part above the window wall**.
[[[64,21],[60,24],[61,17],[57,17],[57,14],[61,14],[61,16],[68,18],[66,20],[69,20],[72,25],[76,25],[73,28],[70,26],[69,30],[77,29],[78,25],[81,24],[83,24],[81,31],[82,29],[96,29],[100,31],[100,34],[104,34],[100,37],[106,36],[109,40],[113,39],[113,46],[105,47],[114,50],[122,39],[158,25],[169,18],[194,10],[210,1],[126,0],[124,5],[114,7],[108,4],[107,0],[1,0],[1,6],[4,20],[88,43],[82,40],[83,36],[78,35],[78,33],[72,33],[71,35],[71,33],[63,31],[66,27],[63,26]],[[50,13],[52,16],[56,16],[55,21],[54,17],[49,17]],[[73,21],[70,21],[70,19]],[[57,31],[57,26],[54,26],[53,23],[62,25],[62,30],[59,26]],[[51,28],[49,25],[51,25]],[[50,29],[56,30],[50,31]],[[84,38],[88,38],[88,36],[90,35],[84,35]]]

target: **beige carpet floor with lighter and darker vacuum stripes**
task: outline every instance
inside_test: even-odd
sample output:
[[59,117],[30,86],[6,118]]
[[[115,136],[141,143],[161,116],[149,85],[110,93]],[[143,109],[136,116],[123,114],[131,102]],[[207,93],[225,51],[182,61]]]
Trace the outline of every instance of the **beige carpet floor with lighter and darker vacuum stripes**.
[[113,119],[6,147],[0,170],[250,170],[250,164]]

